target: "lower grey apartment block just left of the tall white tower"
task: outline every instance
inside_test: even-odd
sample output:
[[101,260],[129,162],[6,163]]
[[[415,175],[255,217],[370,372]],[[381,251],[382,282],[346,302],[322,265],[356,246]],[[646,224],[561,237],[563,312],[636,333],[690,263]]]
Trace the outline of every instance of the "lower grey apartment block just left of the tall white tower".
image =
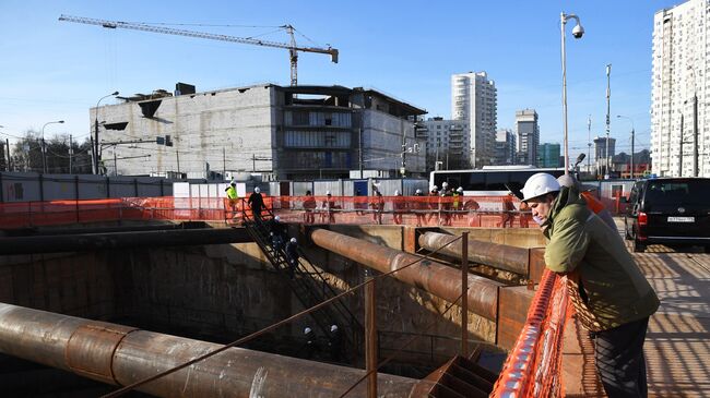
[[[417,133],[426,137],[426,169],[449,170],[470,167],[469,123],[465,120],[429,118],[419,122]],[[438,162],[438,164],[437,164]]]

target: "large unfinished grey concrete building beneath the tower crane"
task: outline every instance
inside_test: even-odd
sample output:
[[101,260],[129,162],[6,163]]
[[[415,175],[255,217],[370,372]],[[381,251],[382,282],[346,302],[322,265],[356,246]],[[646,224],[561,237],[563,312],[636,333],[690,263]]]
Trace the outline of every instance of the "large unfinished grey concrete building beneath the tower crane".
[[[91,109],[92,124],[96,114],[105,121],[107,173],[299,180],[348,178],[360,167],[399,177],[402,166],[407,177],[425,173],[426,144],[411,121],[425,111],[376,91],[265,84],[163,93]],[[415,144],[421,150],[403,154]]]

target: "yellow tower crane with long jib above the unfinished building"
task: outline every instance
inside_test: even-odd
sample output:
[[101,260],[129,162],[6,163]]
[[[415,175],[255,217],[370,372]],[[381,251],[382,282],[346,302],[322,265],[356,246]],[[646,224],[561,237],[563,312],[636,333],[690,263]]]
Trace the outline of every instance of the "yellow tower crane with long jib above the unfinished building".
[[291,43],[279,43],[270,40],[260,40],[250,37],[235,37],[228,35],[217,35],[212,33],[204,32],[194,32],[186,29],[176,29],[170,27],[155,26],[143,23],[131,23],[131,22],[120,22],[120,21],[105,21],[105,20],[95,20],[83,16],[72,16],[72,15],[60,15],[59,21],[66,22],[75,22],[80,24],[97,25],[103,26],[109,29],[122,28],[122,29],[133,29],[133,31],[143,31],[152,33],[161,33],[165,35],[178,35],[178,36],[188,36],[197,38],[205,38],[211,40],[221,40],[229,43],[241,43],[246,45],[255,46],[264,46],[264,47],[275,47],[275,48],[285,48],[288,50],[288,59],[291,62],[291,85],[295,86],[298,82],[298,51],[301,52],[317,52],[317,53],[328,53],[330,55],[330,60],[333,63],[338,63],[338,49],[328,46],[328,48],[318,48],[318,47],[300,47],[296,45],[296,38],[294,37],[294,27],[292,25],[283,25],[281,28],[285,29],[288,36],[291,36]]

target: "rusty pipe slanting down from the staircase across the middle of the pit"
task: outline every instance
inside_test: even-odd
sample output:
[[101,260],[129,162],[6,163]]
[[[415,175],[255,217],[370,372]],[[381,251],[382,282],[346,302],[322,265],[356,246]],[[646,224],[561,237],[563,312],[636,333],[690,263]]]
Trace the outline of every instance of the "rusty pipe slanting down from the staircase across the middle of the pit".
[[[326,229],[315,229],[311,231],[310,238],[313,243],[326,250],[381,273],[402,268],[422,258]],[[460,272],[433,260],[418,262],[392,274],[392,277],[451,302],[461,296]],[[501,286],[504,285],[494,280],[469,274],[470,311],[495,321],[498,309],[498,288]]]

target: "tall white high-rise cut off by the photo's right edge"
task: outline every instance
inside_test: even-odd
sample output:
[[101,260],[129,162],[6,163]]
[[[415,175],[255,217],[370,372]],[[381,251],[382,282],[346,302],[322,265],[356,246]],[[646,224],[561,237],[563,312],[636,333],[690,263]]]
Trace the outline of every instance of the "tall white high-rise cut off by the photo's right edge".
[[659,176],[710,177],[703,100],[709,24],[709,0],[690,0],[653,17],[651,157]]

